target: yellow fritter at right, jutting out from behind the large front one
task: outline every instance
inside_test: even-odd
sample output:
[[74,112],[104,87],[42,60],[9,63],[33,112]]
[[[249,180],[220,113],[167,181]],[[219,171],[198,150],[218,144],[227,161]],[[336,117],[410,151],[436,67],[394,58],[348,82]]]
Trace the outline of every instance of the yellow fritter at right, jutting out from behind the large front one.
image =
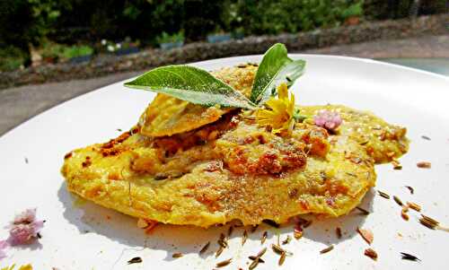
[[301,114],[313,118],[321,109],[339,112],[343,123],[336,131],[346,135],[365,147],[376,163],[390,162],[409,150],[407,129],[377,118],[373,113],[358,111],[341,105],[304,106]]

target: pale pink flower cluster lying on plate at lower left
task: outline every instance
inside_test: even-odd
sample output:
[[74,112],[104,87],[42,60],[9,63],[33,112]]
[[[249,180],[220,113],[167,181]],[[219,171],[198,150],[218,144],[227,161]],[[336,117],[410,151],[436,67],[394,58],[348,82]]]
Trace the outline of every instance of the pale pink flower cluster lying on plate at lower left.
[[44,221],[36,220],[36,209],[27,209],[15,216],[9,227],[8,242],[13,246],[29,244],[39,237],[43,227]]

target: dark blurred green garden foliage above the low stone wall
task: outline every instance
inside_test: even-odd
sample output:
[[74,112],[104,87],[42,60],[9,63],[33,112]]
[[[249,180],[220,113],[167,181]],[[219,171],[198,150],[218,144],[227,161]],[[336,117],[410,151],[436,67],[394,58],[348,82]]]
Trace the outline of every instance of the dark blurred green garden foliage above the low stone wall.
[[[416,5],[419,3],[419,8]],[[0,71],[99,53],[445,13],[445,0],[0,1]],[[168,45],[167,45],[168,44]]]

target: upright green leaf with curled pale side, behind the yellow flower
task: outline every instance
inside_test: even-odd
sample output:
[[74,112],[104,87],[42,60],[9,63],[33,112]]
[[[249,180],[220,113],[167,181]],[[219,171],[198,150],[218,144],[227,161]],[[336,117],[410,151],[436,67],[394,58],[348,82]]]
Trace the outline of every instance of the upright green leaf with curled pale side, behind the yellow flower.
[[280,83],[286,83],[290,87],[304,74],[304,67],[304,60],[294,61],[287,57],[284,44],[273,45],[260,62],[252,85],[251,101],[257,104],[265,103]]

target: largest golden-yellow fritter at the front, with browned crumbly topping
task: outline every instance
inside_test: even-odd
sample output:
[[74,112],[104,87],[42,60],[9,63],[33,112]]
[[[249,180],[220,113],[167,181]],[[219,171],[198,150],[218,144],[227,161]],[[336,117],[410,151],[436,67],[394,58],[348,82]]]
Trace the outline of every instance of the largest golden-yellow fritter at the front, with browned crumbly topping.
[[138,127],[66,155],[70,191],[122,213],[208,227],[348,213],[374,186],[374,161],[356,141],[298,124],[273,135],[239,115],[187,134],[151,138]]

